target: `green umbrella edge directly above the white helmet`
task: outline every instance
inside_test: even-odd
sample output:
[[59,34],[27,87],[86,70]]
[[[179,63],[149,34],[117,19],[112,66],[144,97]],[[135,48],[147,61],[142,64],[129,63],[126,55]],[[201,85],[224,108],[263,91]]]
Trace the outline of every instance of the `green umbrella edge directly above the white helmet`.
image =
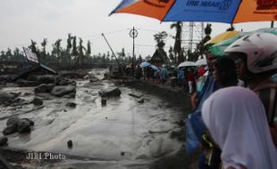
[[243,32],[241,34],[239,34],[238,36],[233,36],[230,39],[226,39],[220,43],[214,44],[212,46],[209,47],[209,51],[211,53],[213,53],[216,56],[223,56],[224,55],[224,50],[233,42],[235,42],[236,40],[238,40],[240,37],[242,36],[246,36],[249,34],[253,34],[253,33],[271,33],[277,36],[277,28],[260,28],[254,31],[250,31],[250,32]]

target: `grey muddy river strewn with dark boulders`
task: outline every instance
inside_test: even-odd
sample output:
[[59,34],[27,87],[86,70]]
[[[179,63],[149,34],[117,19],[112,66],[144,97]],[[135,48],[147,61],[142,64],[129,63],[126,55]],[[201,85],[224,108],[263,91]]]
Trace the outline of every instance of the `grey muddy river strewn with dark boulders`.
[[[88,73],[102,78],[106,71],[97,69]],[[38,95],[44,101],[43,107],[33,104],[0,106],[1,130],[8,119],[4,117],[14,114],[35,122],[30,133],[8,135],[6,149],[60,153],[65,158],[46,165],[21,162],[21,166],[147,168],[155,160],[176,153],[183,145],[170,136],[179,128],[176,124],[180,114],[178,109],[166,107],[164,101],[153,95],[122,86],[119,87],[121,96],[107,99],[106,106],[102,106],[98,92],[115,87],[111,81],[91,83],[84,79],[76,82],[74,99],[43,94]],[[34,87],[4,87],[1,91],[21,93],[19,97],[25,101],[34,98]],[[139,103],[139,98],[130,96],[130,93],[142,94],[144,102]],[[75,102],[76,108],[66,106],[68,102]],[[32,109],[36,110],[29,111]],[[72,141],[71,149],[68,141]]]

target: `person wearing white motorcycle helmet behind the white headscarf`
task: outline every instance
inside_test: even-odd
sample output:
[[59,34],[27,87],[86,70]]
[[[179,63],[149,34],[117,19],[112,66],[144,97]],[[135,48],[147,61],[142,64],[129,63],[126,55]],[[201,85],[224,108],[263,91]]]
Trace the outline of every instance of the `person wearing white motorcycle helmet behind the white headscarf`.
[[241,64],[240,72],[248,88],[258,94],[264,103],[268,123],[271,126],[277,148],[277,83],[272,76],[277,72],[277,36],[254,33],[243,36],[225,49],[228,57]]

